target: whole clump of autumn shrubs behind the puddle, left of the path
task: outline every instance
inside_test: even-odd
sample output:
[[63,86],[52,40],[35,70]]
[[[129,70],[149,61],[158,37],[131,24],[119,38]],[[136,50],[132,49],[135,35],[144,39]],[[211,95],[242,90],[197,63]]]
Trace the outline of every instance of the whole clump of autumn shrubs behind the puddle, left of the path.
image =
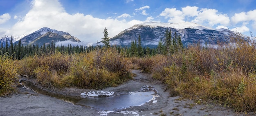
[[19,73],[35,78],[43,87],[101,89],[131,79],[130,60],[116,49],[98,49],[88,54],[29,56],[20,60]]

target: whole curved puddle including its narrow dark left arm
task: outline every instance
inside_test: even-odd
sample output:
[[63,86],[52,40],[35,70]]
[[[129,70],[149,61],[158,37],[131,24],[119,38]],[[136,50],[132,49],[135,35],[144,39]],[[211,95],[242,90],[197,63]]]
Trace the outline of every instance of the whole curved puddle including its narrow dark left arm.
[[[121,109],[126,109],[132,106],[144,105],[146,102],[155,100],[156,90],[150,86],[142,87],[142,91],[130,92],[128,94],[121,94],[116,96],[108,97],[74,97],[74,96],[65,96],[62,94],[56,94],[53,92],[46,91],[44,89],[36,87],[33,83],[28,81],[22,81],[22,84],[27,88],[33,91],[36,91],[39,94],[44,94],[47,96],[52,96],[66,102],[70,102],[76,105],[82,105],[85,107],[93,107],[95,109],[107,110],[107,111],[118,111]],[[145,89],[146,88],[146,89]],[[148,91],[149,89],[150,91]],[[145,91],[146,90],[146,91]]]

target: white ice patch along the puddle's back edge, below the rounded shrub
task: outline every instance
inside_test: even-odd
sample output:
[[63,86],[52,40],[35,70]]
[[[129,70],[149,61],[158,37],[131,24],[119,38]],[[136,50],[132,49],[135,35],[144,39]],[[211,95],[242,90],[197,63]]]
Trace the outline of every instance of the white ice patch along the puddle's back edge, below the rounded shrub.
[[111,91],[90,91],[88,93],[81,93],[81,96],[99,97],[99,96],[112,96],[115,92]]

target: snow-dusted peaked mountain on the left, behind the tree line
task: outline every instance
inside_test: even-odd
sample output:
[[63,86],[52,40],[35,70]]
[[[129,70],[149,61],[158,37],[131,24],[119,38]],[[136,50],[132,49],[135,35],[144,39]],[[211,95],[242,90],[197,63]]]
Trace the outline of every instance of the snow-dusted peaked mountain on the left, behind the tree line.
[[[11,37],[2,37],[0,43],[5,46],[6,40],[8,41],[8,44],[10,44]],[[55,29],[50,29],[47,27],[43,27],[27,36],[18,36],[13,38],[14,43],[18,43],[19,40],[21,41],[22,45],[38,44],[38,46],[42,46],[44,43],[45,45],[49,45],[51,44],[51,42],[55,43],[66,40],[70,40],[72,42],[81,42],[78,38],[71,36],[70,33],[57,31]]]

